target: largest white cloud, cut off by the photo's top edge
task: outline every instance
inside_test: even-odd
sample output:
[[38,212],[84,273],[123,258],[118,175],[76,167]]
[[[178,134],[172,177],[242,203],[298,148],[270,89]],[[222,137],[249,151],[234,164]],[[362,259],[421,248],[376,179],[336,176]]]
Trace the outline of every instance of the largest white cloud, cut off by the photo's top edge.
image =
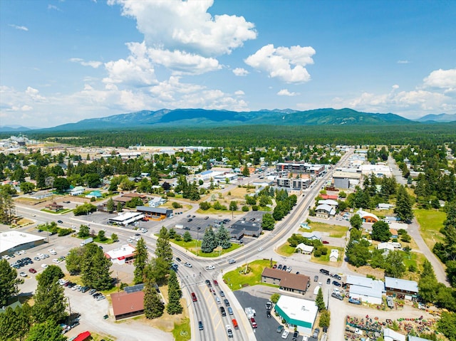
[[148,46],[184,50],[202,56],[231,53],[244,41],[257,38],[254,24],[243,16],[208,13],[213,0],[108,0],[133,17]]

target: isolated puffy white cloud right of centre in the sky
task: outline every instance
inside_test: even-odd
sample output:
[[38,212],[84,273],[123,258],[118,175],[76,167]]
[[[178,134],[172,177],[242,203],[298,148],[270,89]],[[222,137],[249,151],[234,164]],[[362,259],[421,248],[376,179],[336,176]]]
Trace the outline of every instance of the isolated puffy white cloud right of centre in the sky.
[[304,83],[311,79],[304,66],[313,64],[315,50],[310,46],[279,47],[269,44],[260,48],[244,61],[247,65],[269,73],[271,78],[279,78],[286,83]]

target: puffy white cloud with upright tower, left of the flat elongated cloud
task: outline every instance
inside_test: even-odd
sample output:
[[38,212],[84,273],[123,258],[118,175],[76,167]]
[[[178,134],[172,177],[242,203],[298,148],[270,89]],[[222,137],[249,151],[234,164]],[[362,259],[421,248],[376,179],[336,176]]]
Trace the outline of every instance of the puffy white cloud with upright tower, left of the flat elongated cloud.
[[135,87],[157,83],[155,70],[147,56],[145,43],[127,43],[130,56],[118,61],[105,63],[108,77],[103,78],[104,83],[133,85]]

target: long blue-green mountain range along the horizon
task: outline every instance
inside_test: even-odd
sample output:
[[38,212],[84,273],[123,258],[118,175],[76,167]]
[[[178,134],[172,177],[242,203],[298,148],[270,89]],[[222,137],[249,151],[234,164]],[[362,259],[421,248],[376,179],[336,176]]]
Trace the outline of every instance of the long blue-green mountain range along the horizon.
[[[408,120],[392,113],[380,114],[344,109],[291,109],[235,112],[229,110],[162,109],[142,110],[108,117],[90,118],[76,123],[44,128],[41,131],[112,130],[133,127],[222,127],[234,125],[401,125],[418,122],[452,122],[456,114],[426,115]],[[24,132],[33,128],[0,127],[0,132]]]

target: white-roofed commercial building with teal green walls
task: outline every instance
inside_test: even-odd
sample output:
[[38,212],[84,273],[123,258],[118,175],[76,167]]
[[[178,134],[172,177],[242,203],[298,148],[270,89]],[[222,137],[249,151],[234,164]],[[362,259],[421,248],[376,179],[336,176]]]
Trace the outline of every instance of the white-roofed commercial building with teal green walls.
[[296,330],[302,334],[312,334],[318,313],[318,307],[314,301],[281,295],[274,310],[291,327],[296,326]]

